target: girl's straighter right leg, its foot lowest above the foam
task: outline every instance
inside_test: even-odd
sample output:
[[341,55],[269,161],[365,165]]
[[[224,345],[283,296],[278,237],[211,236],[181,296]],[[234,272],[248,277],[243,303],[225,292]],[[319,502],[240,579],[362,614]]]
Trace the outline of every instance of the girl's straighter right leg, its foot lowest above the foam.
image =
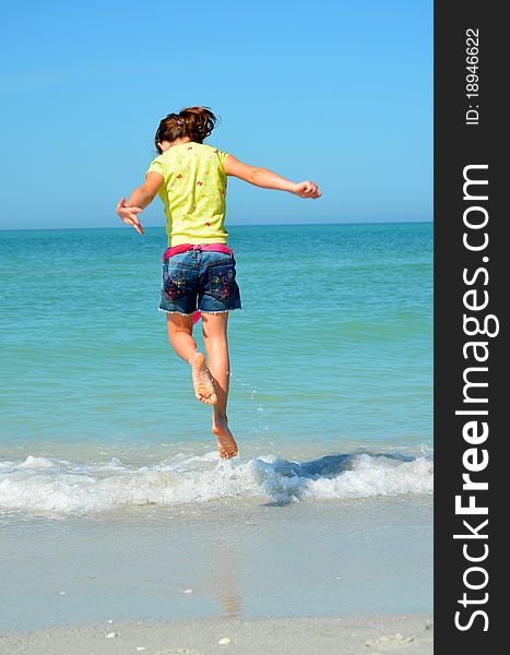
[[230,458],[237,455],[237,443],[228,429],[227,400],[229,358],[227,343],[228,312],[202,312],[203,342],[207,353],[207,366],[214,380],[217,402],[213,408],[213,433],[216,436],[220,455]]

